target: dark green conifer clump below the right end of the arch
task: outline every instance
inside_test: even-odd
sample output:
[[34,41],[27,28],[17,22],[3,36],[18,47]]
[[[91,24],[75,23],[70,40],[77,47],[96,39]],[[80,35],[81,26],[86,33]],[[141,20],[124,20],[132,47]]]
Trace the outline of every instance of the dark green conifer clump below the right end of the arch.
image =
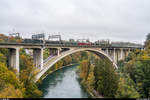
[[95,89],[104,97],[115,97],[119,77],[108,59],[100,59],[94,67]]

